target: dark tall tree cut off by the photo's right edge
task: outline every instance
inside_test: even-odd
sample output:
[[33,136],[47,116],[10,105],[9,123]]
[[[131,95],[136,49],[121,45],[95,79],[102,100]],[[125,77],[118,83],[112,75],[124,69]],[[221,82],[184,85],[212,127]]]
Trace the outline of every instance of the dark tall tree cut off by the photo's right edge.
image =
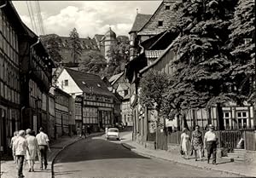
[[[232,55],[232,82],[236,87],[238,103],[255,100],[255,3],[240,0],[230,24]],[[248,42],[247,42],[248,41]],[[254,78],[254,79],[253,79]]]

